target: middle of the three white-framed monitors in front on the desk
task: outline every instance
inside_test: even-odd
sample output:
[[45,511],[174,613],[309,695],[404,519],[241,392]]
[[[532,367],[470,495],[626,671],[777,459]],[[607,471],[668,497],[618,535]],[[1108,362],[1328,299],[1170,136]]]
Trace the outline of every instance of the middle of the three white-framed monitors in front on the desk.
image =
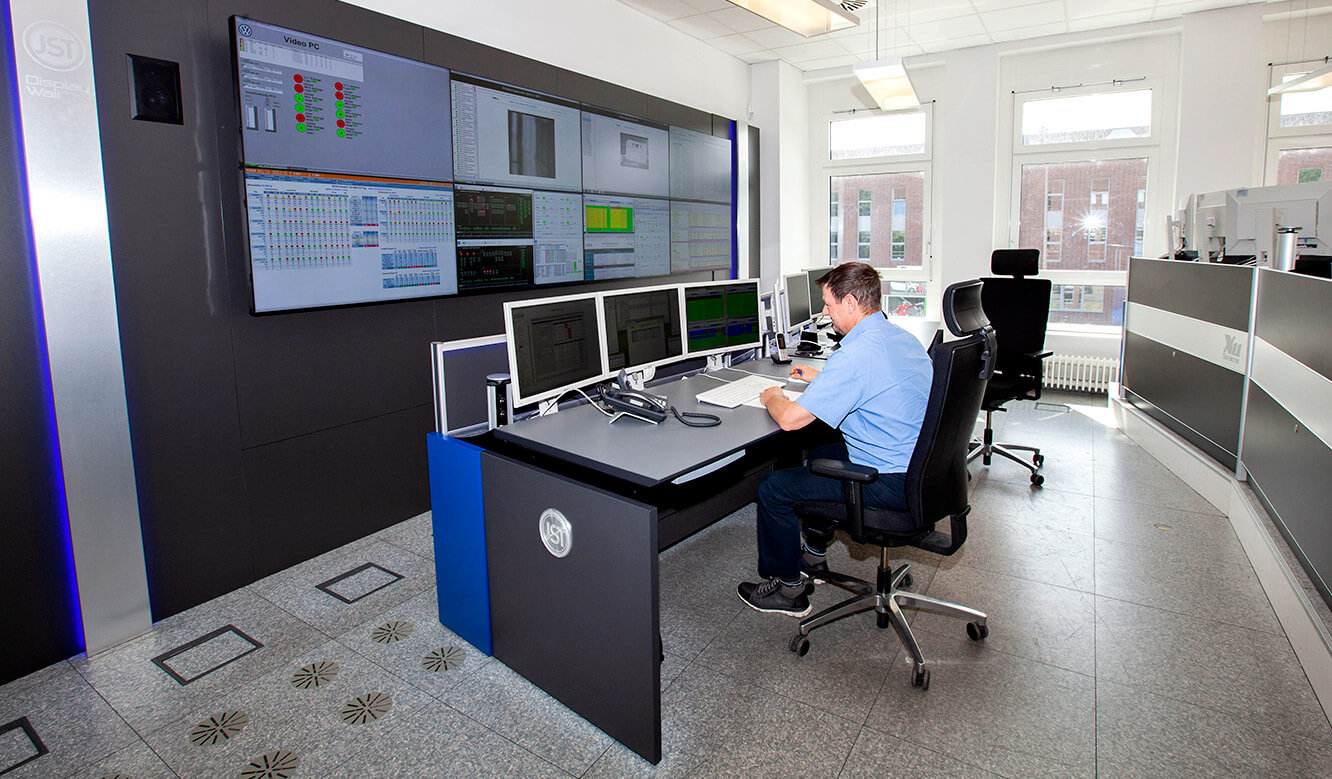
[[601,294],[605,372],[655,368],[685,352],[679,286]]

